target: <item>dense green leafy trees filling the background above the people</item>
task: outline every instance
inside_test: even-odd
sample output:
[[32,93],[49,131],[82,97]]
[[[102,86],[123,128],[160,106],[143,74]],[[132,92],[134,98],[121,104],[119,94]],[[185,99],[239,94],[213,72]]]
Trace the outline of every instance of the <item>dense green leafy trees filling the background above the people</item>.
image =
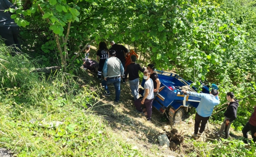
[[[91,42],[115,40],[136,43],[157,68],[183,69],[178,73],[195,80],[196,86],[199,79],[207,77],[220,84],[222,96],[230,89],[237,88],[239,97],[253,90],[255,44],[251,43],[255,40],[248,33],[255,35],[255,22],[254,18],[244,19],[254,17],[255,12],[246,13],[246,6],[236,8],[239,5],[232,2],[218,5],[206,0],[16,2],[16,13],[22,13],[26,20],[13,18],[28,28],[24,29],[24,36],[29,36],[26,40],[31,42],[27,45],[38,44],[64,70],[79,63],[79,53]],[[38,30],[36,35],[27,33],[30,29]]]

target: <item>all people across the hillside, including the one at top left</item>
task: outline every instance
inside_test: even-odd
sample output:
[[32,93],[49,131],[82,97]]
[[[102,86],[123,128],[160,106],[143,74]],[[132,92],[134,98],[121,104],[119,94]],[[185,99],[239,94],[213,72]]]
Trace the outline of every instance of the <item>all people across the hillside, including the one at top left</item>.
[[[11,4],[8,0],[0,0],[0,36],[4,39],[6,46],[13,47],[14,52],[11,55],[21,52],[21,47],[18,42],[19,27],[15,24],[14,19],[11,18],[12,13],[6,11],[6,9],[13,8],[16,9],[15,5]],[[134,105],[139,113],[147,113],[147,120],[151,120],[152,115],[152,103],[155,96],[158,93],[160,87],[160,80],[158,79],[157,73],[154,72],[154,64],[148,64],[146,69],[141,68],[139,64],[136,64],[137,57],[135,55],[131,56],[131,64],[125,69],[125,57],[128,50],[123,45],[115,44],[114,41],[110,42],[112,46],[108,49],[106,42],[99,43],[99,50],[97,51],[97,60],[99,61],[98,66],[98,78],[101,80],[102,73],[104,79],[102,80],[102,86],[105,89],[105,96],[110,96],[110,91],[108,89],[108,84],[113,84],[115,87],[115,102],[119,102],[120,99],[120,83],[121,78],[123,83],[128,81],[131,93],[134,99]],[[86,47],[85,58],[88,58],[90,51],[90,46]],[[90,64],[94,64],[90,62]],[[139,98],[139,71],[143,73],[144,83],[144,93],[143,97]],[[192,136],[197,139],[205,130],[208,119],[212,115],[214,106],[219,104],[218,94],[216,89],[212,89],[210,94],[205,93],[194,93],[190,91],[183,91],[189,95],[200,97],[198,107],[196,108],[196,117],[194,124],[194,133]],[[239,106],[238,100],[234,99],[234,93],[227,93],[227,100],[229,104],[227,110],[224,113],[224,120],[219,131],[215,132],[219,136],[223,131],[225,131],[225,139],[229,137],[229,129],[232,122],[236,119],[236,113]],[[145,106],[143,109],[142,106]],[[201,123],[200,129],[199,124]],[[248,139],[248,132],[251,131],[252,139],[256,142],[256,108],[252,113],[249,121],[244,126],[242,132],[243,137]],[[244,141],[247,143],[247,141]]]

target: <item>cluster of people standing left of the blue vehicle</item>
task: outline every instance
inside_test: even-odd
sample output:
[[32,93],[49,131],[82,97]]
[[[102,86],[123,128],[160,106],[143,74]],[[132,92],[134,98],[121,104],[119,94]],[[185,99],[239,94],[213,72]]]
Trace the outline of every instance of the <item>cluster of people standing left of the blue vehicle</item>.
[[[115,44],[114,41],[110,42],[112,46],[109,50],[106,42],[99,43],[99,50],[97,51],[97,60],[99,61],[98,68],[98,79],[101,80],[102,74],[104,79],[101,81],[102,86],[104,86],[104,96],[109,97],[110,91],[108,89],[108,84],[113,84],[115,87],[115,102],[119,103],[120,100],[120,84],[121,78],[123,83],[128,81],[132,96],[134,99],[134,105],[139,113],[145,113],[147,115],[147,120],[151,120],[152,115],[152,103],[155,96],[160,88],[160,80],[158,79],[157,73],[154,71],[154,64],[148,64],[147,69],[141,68],[139,64],[136,63],[137,57],[132,55],[130,57],[131,64],[129,64],[125,69],[125,60],[128,50],[123,45]],[[139,71],[143,73],[144,83],[144,93],[143,97],[139,97]],[[145,106],[143,109],[141,106]]]

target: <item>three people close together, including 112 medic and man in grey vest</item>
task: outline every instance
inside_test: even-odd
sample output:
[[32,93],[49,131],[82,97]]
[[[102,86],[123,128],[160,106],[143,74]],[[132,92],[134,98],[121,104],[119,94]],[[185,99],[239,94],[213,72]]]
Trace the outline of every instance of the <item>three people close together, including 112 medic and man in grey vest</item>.
[[123,45],[115,44],[114,41],[110,42],[110,45],[112,47],[108,49],[106,42],[99,43],[99,50],[97,51],[97,60],[99,62],[98,79],[101,80],[103,75],[104,79],[101,84],[104,86],[104,96],[106,97],[110,96],[108,84],[114,85],[115,102],[119,103],[121,78],[125,83],[124,66],[128,50]]

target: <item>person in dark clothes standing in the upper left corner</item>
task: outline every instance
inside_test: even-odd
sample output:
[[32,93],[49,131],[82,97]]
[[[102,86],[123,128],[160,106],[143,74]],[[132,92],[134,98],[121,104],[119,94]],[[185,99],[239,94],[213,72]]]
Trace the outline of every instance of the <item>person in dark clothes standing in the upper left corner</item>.
[[4,39],[6,46],[13,47],[14,52],[11,52],[11,55],[14,56],[15,53],[21,52],[18,41],[20,27],[11,18],[13,13],[9,11],[4,12],[9,8],[16,9],[15,5],[11,4],[8,0],[0,0],[0,36]]

